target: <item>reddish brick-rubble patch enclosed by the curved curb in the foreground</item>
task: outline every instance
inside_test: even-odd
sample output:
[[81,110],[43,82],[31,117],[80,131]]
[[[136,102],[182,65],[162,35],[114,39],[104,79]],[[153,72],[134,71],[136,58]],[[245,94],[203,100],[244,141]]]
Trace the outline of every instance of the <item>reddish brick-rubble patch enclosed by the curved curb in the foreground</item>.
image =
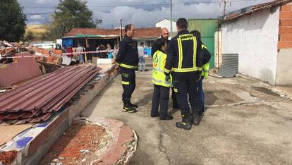
[[85,121],[74,121],[70,128],[54,142],[39,164],[90,164],[98,159],[95,152],[102,147],[106,130]]

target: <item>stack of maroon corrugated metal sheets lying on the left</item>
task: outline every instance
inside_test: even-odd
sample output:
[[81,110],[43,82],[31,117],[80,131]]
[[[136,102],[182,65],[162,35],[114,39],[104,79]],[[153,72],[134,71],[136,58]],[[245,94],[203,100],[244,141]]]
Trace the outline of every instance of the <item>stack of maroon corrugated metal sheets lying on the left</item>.
[[93,65],[61,68],[15,90],[0,94],[0,122],[37,123],[59,111],[101,68]]

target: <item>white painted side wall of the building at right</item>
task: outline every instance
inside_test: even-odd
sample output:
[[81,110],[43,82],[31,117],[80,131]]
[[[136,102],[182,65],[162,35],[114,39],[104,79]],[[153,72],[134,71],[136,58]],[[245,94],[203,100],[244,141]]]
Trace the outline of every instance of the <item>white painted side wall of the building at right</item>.
[[238,54],[238,72],[276,81],[279,7],[258,11],[222,25],[222,54]]

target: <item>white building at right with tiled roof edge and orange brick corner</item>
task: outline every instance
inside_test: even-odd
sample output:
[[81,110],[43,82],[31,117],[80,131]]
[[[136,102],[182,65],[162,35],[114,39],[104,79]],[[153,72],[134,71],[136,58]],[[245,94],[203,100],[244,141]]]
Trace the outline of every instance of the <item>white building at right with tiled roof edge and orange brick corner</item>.
[[292,85],[292,0],[229,13],[221,23],[222,54],[238,54],[238,72]]

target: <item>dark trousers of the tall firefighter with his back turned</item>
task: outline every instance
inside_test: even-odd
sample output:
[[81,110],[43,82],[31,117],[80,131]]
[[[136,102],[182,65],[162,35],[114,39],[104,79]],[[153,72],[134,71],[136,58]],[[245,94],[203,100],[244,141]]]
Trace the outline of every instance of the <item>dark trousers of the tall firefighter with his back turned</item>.
[[197,80],[200,74],[197,72],[188,73],[173,73],[174,75],[174,89],[177,89],[176,99],[178,106],[181,109],[181,114],[189,114],[190,106],[192,109],[198,109],[199,100],[197,97]]

